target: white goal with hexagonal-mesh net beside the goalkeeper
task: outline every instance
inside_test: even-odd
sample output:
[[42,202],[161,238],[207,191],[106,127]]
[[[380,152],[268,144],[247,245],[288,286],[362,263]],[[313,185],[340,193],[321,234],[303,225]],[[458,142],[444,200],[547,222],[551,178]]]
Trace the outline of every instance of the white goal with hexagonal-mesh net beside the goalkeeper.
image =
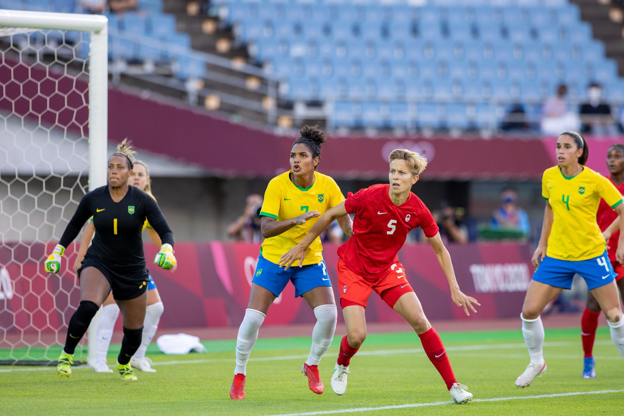
[[0,364],[56,362],[79,304],[77,246],[59,274],[42,264],[105,184],[106,22],[0,10]]

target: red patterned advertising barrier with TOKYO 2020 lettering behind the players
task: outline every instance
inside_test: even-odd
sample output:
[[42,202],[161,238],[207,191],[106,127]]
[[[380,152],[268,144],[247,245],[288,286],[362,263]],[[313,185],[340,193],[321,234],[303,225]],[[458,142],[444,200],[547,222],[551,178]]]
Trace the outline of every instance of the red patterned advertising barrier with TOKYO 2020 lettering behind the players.
[[[324,245],[328,273],[336,287],[336,245]],[[16,327],[34,332],[57,330],[69,322],[79,302],[79,291],[72,290],[76,277],[67,269],[74,257],[64,259],[62,277],[42,273],[45,253],[52,246],[35,244],[16,250],[20,268],[11,262],[11,252],[0,248],[0,266],[6,265],[13,283],[12,299],[4,299],[0,308],[0,326],[15,332]],[[250,282],[258,257],[258,244],[205,242],[177,243],[175,274],[149,267],[165,304],[160,320],[162,329],[188,327],[236,327],[245,315]],[[153,258],[157,249],[145,245],[145,256]],[[67,252],[72,252],[71,247]],[[515,317],[520,313],[524,293],[532,274],[530,250],[525,244],[471,244],[449,247],[464,293],[481,303],[479,313],[469,319]],[[7,254],[9,257],[7,258]],[[24,257],[23,259],[21,257]],[[467,319],[463,310],[451,302],[449,286],[429,245],[407,245],[399,253],[407,278],[422,302],[429,319]],[[38,274],[38,275],[37,275]],[[302,324],[314,321],[305,300],[295,299],[291,284],[271,306],[265,325]],[[54,309],[56,302],[57,309]],[[64,313],[58,310],[65,310]],[[15,325],[13,314],[15,316]],[[342,320],[342,315],[339,320]],[[401,317],[389,309],[376,294],[371,295],[366,309],[368,322],[400,322]]]

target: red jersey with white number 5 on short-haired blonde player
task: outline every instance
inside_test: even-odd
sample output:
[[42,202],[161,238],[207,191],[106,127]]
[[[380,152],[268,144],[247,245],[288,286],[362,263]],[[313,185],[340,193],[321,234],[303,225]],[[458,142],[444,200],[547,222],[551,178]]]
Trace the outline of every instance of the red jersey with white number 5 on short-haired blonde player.
[[355,214],[353,232],[338,249],[347,268],[363,277],[376,278],[392,263],[403,246],[407,233],[421,227],[427,237],[434,237],[436,221],[425,204],[409,192],[407,201],[396,206],[388,194],[389,184],[373,185],[352,194],[349,192],[344,208]]

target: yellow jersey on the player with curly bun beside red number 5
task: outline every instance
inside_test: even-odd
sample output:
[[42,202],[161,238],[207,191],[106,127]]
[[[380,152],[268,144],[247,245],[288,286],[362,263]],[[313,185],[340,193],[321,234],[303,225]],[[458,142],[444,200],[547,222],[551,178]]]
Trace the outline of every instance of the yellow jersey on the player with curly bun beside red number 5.
[[[293,171],[271,179],[266,187],[265,201],[260,210],[261,216],[283,221],[314,210],[323,215],[344,201],[338,184],[331,177],[314,172],[314,183],[304,189],[293,184],[290,180],[291,172]],[[265,239],[260,255],[270,262],[279,264],[281,255],[295,247],[308,234],[319,217],[311,218],[305,224],[295,225],[280,235]],[[317,237],[306,250],[303,265],[319,264],[321,261],[323,261],[323,246],[321,239]],[[299,262],[293,265],[299,265]]]

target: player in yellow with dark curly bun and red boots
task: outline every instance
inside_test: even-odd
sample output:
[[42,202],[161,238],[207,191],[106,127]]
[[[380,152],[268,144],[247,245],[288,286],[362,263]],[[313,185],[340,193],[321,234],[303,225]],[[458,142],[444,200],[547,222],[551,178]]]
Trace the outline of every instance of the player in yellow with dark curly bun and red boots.
[[[245,317],[238,329],[236,367],[230,389],[232,399],[245,399],[246,365],[258,339],[258,329],[273,300],[289,280],[295,286],[295,297],[303,297],[316,317],[310,355],[301,372],[308,377],[312,392],[323,393],[318,364],[334,337],[338,311],[323,261],[321,240],[316,239],[310,245],[300,267],[285,270],[280,267],[280,257],[308,234],[319,215],[344,201],[336,182],[316,172],[325,141],[325,132],[316,127],[303,127],[301,137],[290,149],[291,170],[271,179],[266,187],[260,210],[260,230],[265,241],[251,282]],[[353,234],[353,221],[349,215],[339,218],[338,223],[347,235]]]

